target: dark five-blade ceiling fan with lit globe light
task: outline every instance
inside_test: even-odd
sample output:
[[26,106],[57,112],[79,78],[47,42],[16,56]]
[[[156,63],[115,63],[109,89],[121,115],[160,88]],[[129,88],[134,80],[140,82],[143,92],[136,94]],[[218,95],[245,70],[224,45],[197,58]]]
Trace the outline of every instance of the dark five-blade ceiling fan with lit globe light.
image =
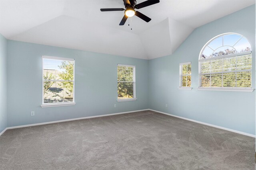
[[119,25],[124,25],[125,21],[127,20],[128,17],[132,17],[136,15],[137,17],[141,18],[142,20],[149,22],[151,18],[148,18],[144,14],[135,11],[134,9],[140,9],[144,8],[146,6],[154,5],[160,2],[160,0],[147,0],[144,1],[140,4],[136,4],[136,0],[123,0],[124,1],[124,8],[101,8],[100,11],[105,12],[105,11],[124,11],[124,17],[121,20]]

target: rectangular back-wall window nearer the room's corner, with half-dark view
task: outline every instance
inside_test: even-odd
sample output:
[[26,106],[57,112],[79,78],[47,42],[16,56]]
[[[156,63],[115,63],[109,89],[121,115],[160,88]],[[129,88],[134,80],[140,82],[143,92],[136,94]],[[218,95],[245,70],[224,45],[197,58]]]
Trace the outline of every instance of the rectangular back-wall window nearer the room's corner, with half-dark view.
[[135,66],[117,65],[117,101],[136,100],[135,98]]

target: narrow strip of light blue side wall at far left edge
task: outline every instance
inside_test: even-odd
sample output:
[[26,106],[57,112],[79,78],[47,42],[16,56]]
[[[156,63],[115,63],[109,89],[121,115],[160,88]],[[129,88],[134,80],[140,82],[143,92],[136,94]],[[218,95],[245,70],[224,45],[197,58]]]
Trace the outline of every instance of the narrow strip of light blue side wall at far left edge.
[[0,34],[0,133],[7,127],[7,40]]

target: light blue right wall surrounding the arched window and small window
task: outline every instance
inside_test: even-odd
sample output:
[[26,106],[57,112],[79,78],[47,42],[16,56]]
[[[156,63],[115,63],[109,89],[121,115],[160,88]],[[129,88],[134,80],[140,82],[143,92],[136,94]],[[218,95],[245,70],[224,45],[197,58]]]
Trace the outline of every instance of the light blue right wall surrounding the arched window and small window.
[[[255,88],[255,5],[196,28],[174,54],[149,61],[149,107],[255,135],[255,91],[199,91],[198,56],[216,35],[240,33],[251,43]],[[178,90],[179,63],[191,61],[192,87]],[[168,104],[166,108],[165,105]]]

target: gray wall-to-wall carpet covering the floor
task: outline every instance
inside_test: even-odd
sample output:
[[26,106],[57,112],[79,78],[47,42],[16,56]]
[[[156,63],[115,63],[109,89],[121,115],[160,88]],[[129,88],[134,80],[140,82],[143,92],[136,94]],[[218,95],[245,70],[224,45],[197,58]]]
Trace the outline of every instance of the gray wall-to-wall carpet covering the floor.
[[0,169],[254,170],[255,139],[153,111],[7,130]]

